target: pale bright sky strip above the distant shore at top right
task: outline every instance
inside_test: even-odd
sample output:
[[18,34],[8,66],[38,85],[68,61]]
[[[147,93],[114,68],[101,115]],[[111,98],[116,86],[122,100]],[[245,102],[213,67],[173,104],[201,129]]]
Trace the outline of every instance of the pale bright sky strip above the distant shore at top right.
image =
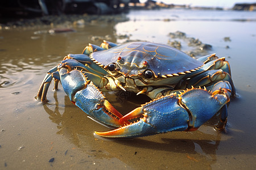
[[[140,0],[146,2],[147,0]],[[233,7],[235,3],[256,3],[256,0],[156,0],[158,2],[164,2],[167,4],[176,5],[190,5],[190,6],[204,6],[204,7]]]

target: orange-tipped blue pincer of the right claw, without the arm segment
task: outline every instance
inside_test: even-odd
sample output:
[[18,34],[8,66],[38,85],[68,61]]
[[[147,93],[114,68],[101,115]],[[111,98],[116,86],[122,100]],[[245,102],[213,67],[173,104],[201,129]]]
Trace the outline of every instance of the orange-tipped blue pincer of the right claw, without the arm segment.
[[177,103],[176,95],[165,96],[151,101],[126,114],[120,121],[140,118],[138,122],[112,131],[95,132],[102,137],[135,138],[188,127],[187,111]]

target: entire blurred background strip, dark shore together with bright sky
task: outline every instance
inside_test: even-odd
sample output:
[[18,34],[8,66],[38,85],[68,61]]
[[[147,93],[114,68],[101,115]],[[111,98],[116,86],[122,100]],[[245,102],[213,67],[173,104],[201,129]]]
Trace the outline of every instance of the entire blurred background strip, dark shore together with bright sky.
[[131,8],[201,8],[255,10],[255,1],[151,1],[151,0],[2,0],[1,15],[117,14]]

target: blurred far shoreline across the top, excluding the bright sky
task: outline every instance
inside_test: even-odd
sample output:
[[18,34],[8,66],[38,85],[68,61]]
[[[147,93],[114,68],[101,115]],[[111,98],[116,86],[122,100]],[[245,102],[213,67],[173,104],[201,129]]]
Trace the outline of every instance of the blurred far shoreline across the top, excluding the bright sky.
[[[256,0],[255,0],[256,1]],[[0,0],[0,17],[8,15],[118,14],[134,10],[183,8],[193,10],[225,10],[222,7],[191,7],[166,4],[156,0]],[[256,11],[256,3],[236,3],[231,10]]]

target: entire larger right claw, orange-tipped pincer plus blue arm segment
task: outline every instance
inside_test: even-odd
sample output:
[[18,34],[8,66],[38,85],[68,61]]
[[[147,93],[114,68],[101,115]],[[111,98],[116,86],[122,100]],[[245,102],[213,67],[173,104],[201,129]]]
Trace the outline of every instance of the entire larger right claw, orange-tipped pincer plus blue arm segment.
[[230,85],[217,83],[208,92],[192,88],[180,95],[171,94],[134,109],[119,121],[139,121],[107,132],[95,132],[102,137],[134,138],[165,133],[167,131],[193,131],[208,121],[229,102]]

